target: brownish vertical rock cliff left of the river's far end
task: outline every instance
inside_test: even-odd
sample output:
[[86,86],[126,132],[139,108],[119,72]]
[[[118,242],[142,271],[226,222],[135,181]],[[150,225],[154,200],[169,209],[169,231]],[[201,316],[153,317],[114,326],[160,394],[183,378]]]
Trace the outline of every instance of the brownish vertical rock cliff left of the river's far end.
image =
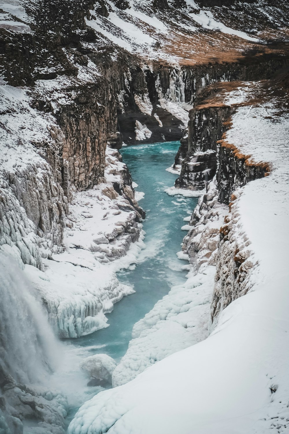
[[[93,187],[104,177],[107,139],[117,134],[115,102],[104,82],[77,89],[73,104],[57,113],[65,135],[62,148],[64,182],[68,178],[77,190]],[[117,142],[118,140],[118,142]],[[115,139],[121,145],[121,139]]]

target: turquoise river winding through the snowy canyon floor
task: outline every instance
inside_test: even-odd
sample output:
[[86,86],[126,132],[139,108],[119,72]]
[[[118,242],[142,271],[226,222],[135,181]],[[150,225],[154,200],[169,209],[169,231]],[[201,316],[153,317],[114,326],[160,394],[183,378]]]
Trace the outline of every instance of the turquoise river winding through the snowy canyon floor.
[[181,250],[185,235],[181,230],[186,224],[183,219],[192,214],[197,198],[169,196],[165,192],[178,176],[166,171],[173,164],[178,148],[179,142],[165,142],[124,147],[120,151],[133,181],[138,184],[136,191],[145,193],[140,206],[146,211],[143,221],[146,248],[136,258],[136,264],[117,273],[118,279],[133,286],[136,292],[114,305],[108,314],[109,327],[65,342],[66,366],[57,373],[55,387],[59,388],[59,381],[60,386],[65,385],[63,392],[71,404],[67,424],[84,401],[103,390],[86,386],[88,378],[80,372],[79,362],[97,353],[106,353],[119,362],[127,350],[133,325],[173,285],[185,282],[187,263],[179,260],[176,253]]

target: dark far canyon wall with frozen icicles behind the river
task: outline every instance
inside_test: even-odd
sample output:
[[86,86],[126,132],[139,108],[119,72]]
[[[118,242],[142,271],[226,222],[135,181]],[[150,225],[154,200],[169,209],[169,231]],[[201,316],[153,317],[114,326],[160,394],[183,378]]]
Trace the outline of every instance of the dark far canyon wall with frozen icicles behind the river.
[[[174,68],[144,64],[142,68],[130,68],[117,89],[117,119],[123,141],[140,142],[135,134],[136,122],[151,132],[142,143],[182,140],[187,112],[206,86],[222,81],[267,79],[285,63],[286,60],[272,58],[249,64],[224,62]],[[184,150],[180,152],[184,154]]]

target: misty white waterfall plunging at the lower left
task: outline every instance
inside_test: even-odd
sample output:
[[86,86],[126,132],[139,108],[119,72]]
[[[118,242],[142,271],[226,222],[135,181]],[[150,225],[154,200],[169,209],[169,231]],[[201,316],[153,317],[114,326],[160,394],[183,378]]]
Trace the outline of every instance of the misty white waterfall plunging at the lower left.
[[43,382],[56,365],[60,344],[23,270],[0,252],[0,380]]

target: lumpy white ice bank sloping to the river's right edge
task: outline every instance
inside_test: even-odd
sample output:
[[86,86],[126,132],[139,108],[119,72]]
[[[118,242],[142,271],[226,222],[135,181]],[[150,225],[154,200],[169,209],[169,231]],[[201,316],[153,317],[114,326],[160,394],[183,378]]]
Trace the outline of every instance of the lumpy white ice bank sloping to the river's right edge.
[[127,383],[149,366],[208,336],[208,319],[215,267],[173,287],[133,326],[126,354],[113,372],[113,386]]

